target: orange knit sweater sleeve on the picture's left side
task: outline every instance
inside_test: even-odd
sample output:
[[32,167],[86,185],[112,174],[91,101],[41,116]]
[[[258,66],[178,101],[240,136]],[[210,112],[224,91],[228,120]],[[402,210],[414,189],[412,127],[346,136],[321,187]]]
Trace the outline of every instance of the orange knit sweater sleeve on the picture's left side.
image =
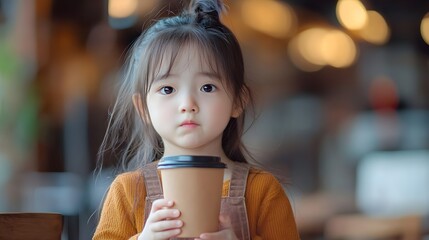
[[[127,175],[119,175],[106,195],[93,240],[137,239],[134,201],[136,188]],[[140,221],[138,221],[140,222]]]

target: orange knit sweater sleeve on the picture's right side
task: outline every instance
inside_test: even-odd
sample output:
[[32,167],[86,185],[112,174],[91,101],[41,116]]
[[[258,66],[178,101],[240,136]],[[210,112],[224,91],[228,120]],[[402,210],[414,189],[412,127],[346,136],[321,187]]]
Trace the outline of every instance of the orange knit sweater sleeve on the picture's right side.
[[292,207],[282,186],[268,173],[261,173],[258,193],[261,196],[257,217],[257,230],[253,239],[297,240],[300,239]]

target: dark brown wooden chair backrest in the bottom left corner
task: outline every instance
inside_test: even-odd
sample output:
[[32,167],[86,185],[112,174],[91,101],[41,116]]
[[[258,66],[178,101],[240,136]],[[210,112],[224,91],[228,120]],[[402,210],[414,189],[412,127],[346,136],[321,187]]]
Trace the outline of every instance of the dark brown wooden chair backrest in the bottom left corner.
[[60,240],[62,230],[58,213],[0,213],[0,240]]

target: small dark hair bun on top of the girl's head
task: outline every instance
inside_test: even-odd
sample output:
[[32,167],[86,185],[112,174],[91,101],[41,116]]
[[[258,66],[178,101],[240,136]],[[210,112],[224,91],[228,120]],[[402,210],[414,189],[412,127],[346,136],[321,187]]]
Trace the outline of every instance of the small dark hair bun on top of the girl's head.
[[190,12],[195,14],[195,21],[206,28],[220,23],[220,14],[224,10],[221,0],[192,0]]

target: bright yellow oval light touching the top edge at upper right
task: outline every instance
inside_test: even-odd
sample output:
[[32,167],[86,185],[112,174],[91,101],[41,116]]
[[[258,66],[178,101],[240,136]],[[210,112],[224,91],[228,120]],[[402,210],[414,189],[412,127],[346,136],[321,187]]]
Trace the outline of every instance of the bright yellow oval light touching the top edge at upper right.
[[336,13],[341,25],[350,30],[361,29],[367,21],[365,6],[359,0],[339,0]]

